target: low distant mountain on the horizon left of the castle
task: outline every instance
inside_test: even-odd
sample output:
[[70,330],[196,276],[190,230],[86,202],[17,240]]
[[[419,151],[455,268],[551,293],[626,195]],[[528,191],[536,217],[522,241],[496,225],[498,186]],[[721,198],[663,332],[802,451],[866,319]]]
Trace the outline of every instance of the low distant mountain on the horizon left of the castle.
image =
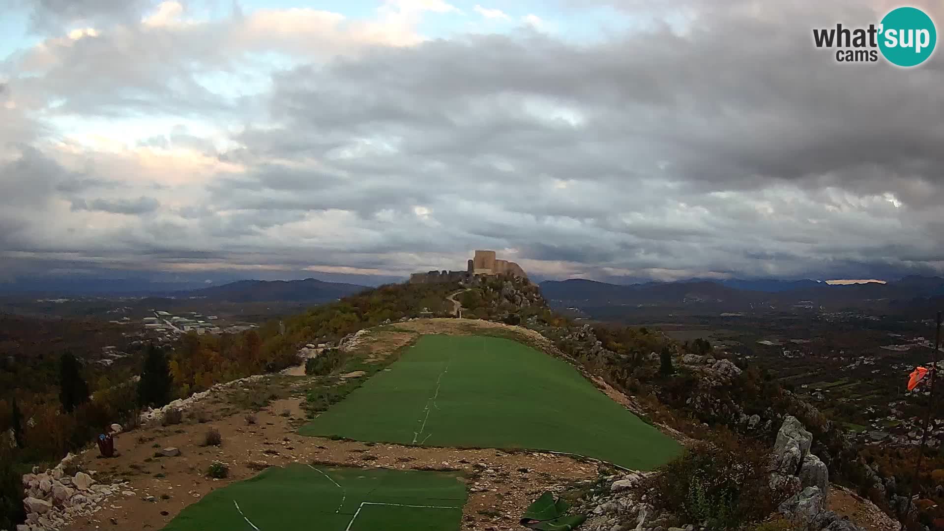
[[200,297],[228,302],[329,302],[370,289],[348,283],[328,283],[315,279],[302,281],[239,281],[202,289],[177,292],[175,297]]

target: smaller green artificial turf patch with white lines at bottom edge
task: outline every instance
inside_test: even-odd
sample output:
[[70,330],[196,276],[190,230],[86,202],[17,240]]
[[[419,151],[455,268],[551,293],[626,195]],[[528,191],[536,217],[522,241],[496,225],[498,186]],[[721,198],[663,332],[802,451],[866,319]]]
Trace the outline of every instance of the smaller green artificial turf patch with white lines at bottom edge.
[[213,490],[162,531],[458,531],[465,499],[452,473],[295,464]]

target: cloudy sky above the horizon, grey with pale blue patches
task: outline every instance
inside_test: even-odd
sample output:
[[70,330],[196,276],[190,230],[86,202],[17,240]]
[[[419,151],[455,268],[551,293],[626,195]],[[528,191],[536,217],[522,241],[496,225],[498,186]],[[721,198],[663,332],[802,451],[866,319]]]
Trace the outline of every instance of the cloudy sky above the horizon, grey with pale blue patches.
[[0,279],[944,273],[897,3],[481,1],[0,1]]

